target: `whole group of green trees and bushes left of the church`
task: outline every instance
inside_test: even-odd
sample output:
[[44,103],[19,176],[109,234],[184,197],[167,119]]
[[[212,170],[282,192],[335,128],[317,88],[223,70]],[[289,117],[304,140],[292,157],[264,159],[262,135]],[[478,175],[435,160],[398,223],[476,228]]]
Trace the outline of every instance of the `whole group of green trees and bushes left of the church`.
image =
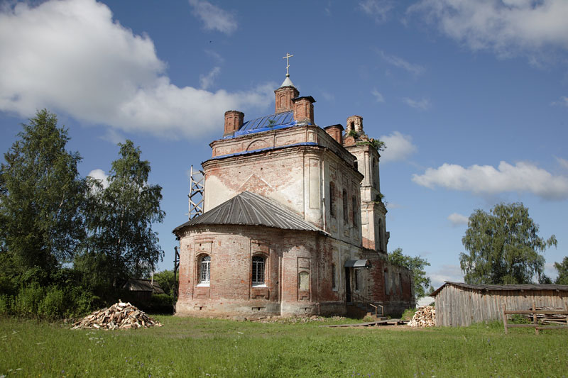
[[55,114],[43,109],[22,127],[0,166],[0,313],[59,318],[116,301],[164,254],[150,163],[131,140],[119,143],[104,187],[80,176]]

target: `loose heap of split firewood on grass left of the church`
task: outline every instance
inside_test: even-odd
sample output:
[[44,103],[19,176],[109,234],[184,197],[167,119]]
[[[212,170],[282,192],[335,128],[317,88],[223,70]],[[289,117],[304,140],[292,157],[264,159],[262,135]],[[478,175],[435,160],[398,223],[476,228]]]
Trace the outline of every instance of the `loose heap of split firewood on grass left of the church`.
[[94,311],[82,320],[73,323],[71,329],[95,328],[104,330],[117,330],[126,328],[148,328],[162,324],[150,318],[144,311],[139,310],[129,302],[113,304],[109,308]]

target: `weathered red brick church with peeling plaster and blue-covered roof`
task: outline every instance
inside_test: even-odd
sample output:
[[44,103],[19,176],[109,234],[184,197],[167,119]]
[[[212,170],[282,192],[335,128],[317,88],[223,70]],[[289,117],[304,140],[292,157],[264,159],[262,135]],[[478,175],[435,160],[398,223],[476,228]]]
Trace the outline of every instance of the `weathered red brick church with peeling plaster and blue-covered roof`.
[[202,163],[204,212],[173,230],[176,313],[330,315],[367,302],[387,314],[415,305],[411,272],[386,261],[380,155],[363,118],[321,128],[314,103],[286,74],[274,114],[244,122],[225,113],[223,138]]

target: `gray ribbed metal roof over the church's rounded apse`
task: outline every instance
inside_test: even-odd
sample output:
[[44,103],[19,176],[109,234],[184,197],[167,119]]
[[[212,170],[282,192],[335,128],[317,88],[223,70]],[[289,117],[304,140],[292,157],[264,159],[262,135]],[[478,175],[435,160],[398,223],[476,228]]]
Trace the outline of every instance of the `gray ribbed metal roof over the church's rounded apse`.
[[203,215],[183,223],[174,228],[173,233],[187,226],[198,225],[266,226],[325,233],[282,205],[250,191],[243,191]]

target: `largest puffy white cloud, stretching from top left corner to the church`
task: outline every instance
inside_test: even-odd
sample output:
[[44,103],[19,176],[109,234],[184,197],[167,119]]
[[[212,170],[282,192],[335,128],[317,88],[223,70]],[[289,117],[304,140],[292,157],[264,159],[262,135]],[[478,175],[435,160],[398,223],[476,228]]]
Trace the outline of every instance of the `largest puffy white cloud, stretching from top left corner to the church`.
[[151,38],[94,0],[4,7],[0,51],[0,111],[23,117],[45,107],[124,132],[199,138],[222,132],[226,110],[273,101],[275,84],[240,92],[175,86]]

